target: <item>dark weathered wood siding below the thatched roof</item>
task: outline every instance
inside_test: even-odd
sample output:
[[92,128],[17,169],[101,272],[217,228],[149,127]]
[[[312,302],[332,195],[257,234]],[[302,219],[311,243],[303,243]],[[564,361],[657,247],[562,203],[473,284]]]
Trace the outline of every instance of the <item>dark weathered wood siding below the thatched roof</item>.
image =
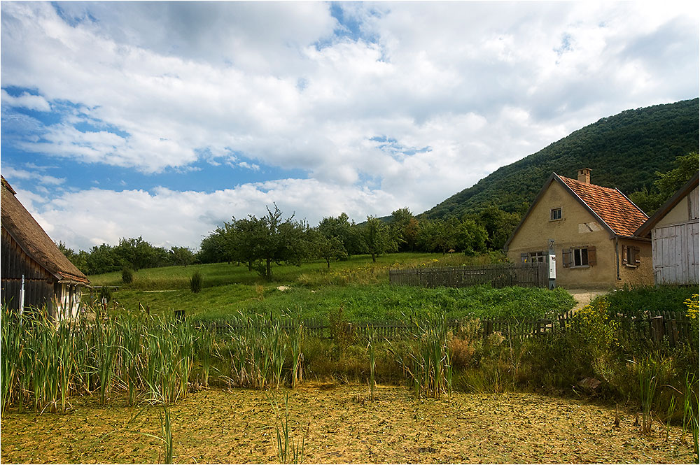
[[55,278],[40,264],[31,259],[12,236],[2,229],[2,279],[0,297],[10,308],[19,307],[22,275],[25,276],[25,308],[46,308],[52,312]]

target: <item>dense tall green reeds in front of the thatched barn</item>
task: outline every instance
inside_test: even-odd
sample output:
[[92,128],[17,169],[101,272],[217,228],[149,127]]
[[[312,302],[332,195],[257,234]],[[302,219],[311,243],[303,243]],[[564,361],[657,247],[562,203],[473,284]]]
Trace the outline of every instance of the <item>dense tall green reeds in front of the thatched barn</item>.
[[[70,397],[97,393],[105,404],[115,390],[134,405],[140,393],[166,403],[188,392],[198,331],[172,318],[140,321],[107,317],[54,322],[42,312],[2,308],[2,412],[65,411]],[[152,388],[151,388],[152,387]]]

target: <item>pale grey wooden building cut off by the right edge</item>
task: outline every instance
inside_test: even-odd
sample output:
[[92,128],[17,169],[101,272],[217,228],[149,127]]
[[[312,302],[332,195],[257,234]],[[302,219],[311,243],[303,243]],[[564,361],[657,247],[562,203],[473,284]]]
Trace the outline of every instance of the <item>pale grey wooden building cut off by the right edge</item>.
[[635,232],[652,241],[657,285],[698,285],[698,174]]

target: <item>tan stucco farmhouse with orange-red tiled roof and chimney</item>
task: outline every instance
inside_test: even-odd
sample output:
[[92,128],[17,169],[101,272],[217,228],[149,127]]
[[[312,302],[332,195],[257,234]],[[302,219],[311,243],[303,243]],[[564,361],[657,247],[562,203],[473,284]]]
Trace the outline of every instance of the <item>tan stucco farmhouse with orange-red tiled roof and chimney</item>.
[[619,190],[591,184],[590,169],[577,180],[552,173],[505,252],[512,262],[542,262],[553,245],[563,287],[652,284],[651,241],[634,235],[646,220]]

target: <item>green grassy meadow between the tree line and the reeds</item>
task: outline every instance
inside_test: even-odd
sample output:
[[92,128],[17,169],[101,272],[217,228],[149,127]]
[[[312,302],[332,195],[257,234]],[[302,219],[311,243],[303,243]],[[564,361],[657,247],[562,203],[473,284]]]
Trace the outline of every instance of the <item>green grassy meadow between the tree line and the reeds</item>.
[[[573,299],[562,289],[505,288],[477,286],[461,289],[391,286],[388,269],[416,266],[446,266],[484,263],[493,257],[468,258],[463,255],[391,254],[377,263],[367,256],[346,262],[304,263],[302,266],[276,266],[274,279],[267,282],[255,271],[236,264],[207,264],[144,269],[134,273],[134,282],[121,283],[120,273],[90,277],[93,285],[118,285],[113,292],[117,308],[138,311],[139,304],[151,313],[186,310],[198,319],[221,319],[239,314],[300,315],[326,320],[331,311],[343,309],[353,322],[404,320],[446,313],[449,318],[477,317],[536,318],[552,315],[573,306]],[[498,257],[496,256],[496,259]],[[193,294],[189,277],[199,271],[202,291]],[[280,287],[287,289],[280,290]]]

